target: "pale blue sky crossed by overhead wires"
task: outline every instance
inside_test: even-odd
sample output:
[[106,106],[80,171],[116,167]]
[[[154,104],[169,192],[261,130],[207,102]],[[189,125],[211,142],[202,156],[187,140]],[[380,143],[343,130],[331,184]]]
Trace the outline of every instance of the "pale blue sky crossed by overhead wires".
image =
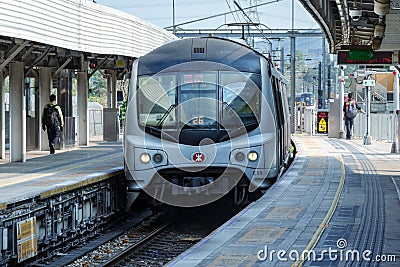
[[[175,2],[175,23],[218,15],[237,9],[233,0],[95,0],[98,4],[121,10],[160,27],[172,26],[172,3]],[[292,0],[236,0],[242,8],[256,3],[269,3],[257,8],[259,21],[271,29],[291,29]],[[301,3],[295,2],[294,28],[319,29]],[[253,17],[254,18],[254,17]],[[244,22],[244,17],[225,15],[181,26],[184,29],[216,29],[224,23]]]

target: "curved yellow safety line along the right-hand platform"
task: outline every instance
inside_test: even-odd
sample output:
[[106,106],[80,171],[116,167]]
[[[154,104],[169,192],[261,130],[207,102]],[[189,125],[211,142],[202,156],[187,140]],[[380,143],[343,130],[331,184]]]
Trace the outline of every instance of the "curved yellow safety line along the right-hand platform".
[[303,263],[305,261],[304,256],[307,255],[309,251],[314,249],[315,245],[318,243],[319,239],[321,238],[322,233],[328,227],[328,223],[330,222],[332,215],[336,210],[337,204],[339,202],[340,194],[342,193],[344,181],[346,179],[344,162],[343,162],[343,158],[340,154],[339,154],[339,160],[340,160],[340,168],[342,169],[342,176],[340,177],[339,186],[336,190],[336,194],[335,194],[335,197],[333,198],[331,207],[329,208],[327,214],[325,215],[324,220],[319,225],[317,231],[314,233],[313,237],[311,238],[310,242],[308,243],[306,249],[301,253],[301,257],[295,263],[292,264],[292,267],[303,266]]

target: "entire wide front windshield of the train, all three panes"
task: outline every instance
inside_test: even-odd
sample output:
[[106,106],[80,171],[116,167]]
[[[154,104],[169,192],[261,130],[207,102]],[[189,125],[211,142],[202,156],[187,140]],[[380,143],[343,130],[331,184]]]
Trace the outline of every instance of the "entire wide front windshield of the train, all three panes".
[[257,126],[260,83],[259,75],[229,71],[139,77],[139,124],[164,130]]

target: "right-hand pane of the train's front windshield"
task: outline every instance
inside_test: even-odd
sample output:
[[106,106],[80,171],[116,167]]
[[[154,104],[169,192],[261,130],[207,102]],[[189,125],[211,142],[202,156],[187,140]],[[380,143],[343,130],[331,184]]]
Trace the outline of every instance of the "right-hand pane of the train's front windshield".
[[260,76],[222,72],[222,116],[224,128],[258,124],[260,119]]

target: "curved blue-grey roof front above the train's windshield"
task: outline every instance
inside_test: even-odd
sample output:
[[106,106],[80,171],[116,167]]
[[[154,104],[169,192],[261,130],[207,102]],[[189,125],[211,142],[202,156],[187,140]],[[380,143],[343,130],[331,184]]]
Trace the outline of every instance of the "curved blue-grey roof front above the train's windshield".
[[[227,70],[260,73],[259,52],[245,44],[224,38],[187,38],[169,42],[139,58],[139,75],[150,75],[181,63],[207,61]],[[266,59],[266,58],[265,58]],[[268,59],[267,59],[268,60]],[[219,66],[219,70],[224,68]]]

